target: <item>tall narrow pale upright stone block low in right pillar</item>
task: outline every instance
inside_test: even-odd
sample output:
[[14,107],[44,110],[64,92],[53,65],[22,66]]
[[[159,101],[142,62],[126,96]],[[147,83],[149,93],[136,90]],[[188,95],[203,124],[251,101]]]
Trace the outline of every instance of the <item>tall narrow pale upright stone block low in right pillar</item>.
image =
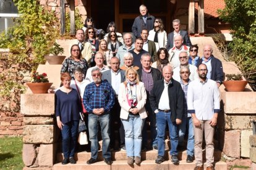
[[249,158],[250,157],[250,142],[249,137],[252,135],[252,130],[242,130],[241,131],[241,156]]

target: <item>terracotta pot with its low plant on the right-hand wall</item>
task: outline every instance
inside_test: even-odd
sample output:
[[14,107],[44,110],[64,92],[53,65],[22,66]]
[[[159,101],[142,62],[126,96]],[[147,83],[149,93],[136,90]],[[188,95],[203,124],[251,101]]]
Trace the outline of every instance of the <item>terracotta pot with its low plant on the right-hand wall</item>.
[[242,74],[227,74],[226,81],[223,81],[228,92],[242,92],[248,81],[243,79]]

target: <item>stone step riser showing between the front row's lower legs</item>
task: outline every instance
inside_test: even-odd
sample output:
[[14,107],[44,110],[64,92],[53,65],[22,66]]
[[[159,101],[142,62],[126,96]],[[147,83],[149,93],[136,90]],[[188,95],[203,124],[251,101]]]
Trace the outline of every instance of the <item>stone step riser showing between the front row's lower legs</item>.
[[[113,161],[119,161],[119,160],[127,160],[126,152],[125,151],[114,151],[112,154],[112,160]],[[166,160],[171,160],[171,156],[169,155],[169,150],[165,150],[164,157]],[[155,160],[158,156],[158,152],[156,150],[148,150],[146,152],[141,152],[142,160]],[[75,160],[78,161],[87,161],[91,158],[90,152],[78,152],[75,153]],[[178,154],[179,160],[186,160],[187,159],[187,151],[180,151]],[[203,152],[203,158],[205,158],[205,152]],[[221,160],[221,151],[215,150],[214,152],[214,158],[215,161]],[[62,153],[57,154],[56,161],[59,163],[64,159]],[[98,152],[98,160],[103,161],[102,151],[100,150]]]

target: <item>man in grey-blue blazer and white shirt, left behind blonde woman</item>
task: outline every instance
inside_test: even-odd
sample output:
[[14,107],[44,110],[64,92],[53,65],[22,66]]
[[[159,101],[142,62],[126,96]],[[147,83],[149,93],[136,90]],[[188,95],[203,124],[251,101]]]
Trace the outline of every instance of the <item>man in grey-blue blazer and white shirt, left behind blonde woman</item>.
[[114,135],[113,125],[114,125],[114,122],[117,122],[117,126],[119,127],[119,135],[120,135],[119,147],[122,150],[126,150],[126,147],[124,144],[124,126],[122,125],[121,119],[120,119],[121,107],[117,100],[119,86],[122,82],[126,80],[126,71],[121,70],[119,68],[120,60],[117,57],[112,57],[110,59],[110,65],[111,65],[111,69],[104,71],[102,73],[102,79],[106,79],[108,83],[111,84],[115,94],[114,107],[110,111],[111,113],[110,114],[110,149],[114,149],[115,135]]

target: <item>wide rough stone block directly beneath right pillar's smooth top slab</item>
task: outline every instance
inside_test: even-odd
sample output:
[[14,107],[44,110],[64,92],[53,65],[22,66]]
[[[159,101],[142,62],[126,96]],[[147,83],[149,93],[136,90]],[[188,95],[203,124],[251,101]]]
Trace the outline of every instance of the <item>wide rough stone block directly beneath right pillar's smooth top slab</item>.
[[232,129],[252,129],[252,121],[256,116],[252,115],[224,115],[225,130]]

